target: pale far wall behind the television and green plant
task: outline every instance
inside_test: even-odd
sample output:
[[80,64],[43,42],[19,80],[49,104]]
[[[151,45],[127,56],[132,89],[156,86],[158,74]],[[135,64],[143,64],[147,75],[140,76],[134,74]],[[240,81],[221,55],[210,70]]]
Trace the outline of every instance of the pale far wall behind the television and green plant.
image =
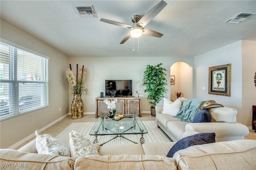
[[[142,52],[143,55],[143,52]],[[95,98],[104,92],[104,82],[108,79],[129,79],[132,80],[132,91],[138,91],[142,97],[142,112],[150,111],[150,104],[144,94],[142,79],[146,65],[156,65],[163,63],[162,67],[166,68],[166,79],[170,81],[170,66],[178,61],[184,61],[190,65],[194,64],[193,58],[180,57],[69,57],[69,63],[72,64],[72,70],[76,64],[79,68],[84,64],[86,69],[85,85],[89,90],[89,95],[82,96],[84,102],[84,112],[95,113]],[[168,92],[164,96],[170,99],[170,86],[166,86]],[[69,98],[71,106],[73,97]],[[162,101],[160,102],[160,104]],[[69,107],[71,112],[71,107]]]

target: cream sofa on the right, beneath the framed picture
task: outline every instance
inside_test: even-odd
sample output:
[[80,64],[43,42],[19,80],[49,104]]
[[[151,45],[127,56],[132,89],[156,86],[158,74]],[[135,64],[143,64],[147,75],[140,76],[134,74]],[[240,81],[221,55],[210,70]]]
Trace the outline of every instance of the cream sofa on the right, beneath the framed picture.
[[[182,98],[182,105],[186,100]],[[162,113],[163,105],[157,105],[155,108],[157,125],[174,142],[196,133],[214,132],[216,142],[244,139],[244,136],[249,134],[248,127],[236,122],[237,110],[234,108],[209,108],[211,121],[207,123],[179,121],[172,115]]]

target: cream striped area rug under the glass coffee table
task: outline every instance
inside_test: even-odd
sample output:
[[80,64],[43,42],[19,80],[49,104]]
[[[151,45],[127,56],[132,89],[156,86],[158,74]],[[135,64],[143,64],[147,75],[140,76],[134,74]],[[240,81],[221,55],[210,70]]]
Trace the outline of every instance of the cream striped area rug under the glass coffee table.
[[[66,129],[64,129],[61,133],[56,136],[56,139],[62,141],[65,145],[69,145],[69,133],[74,130],[78,133],[81,133],[90,141],[94,141],[95,137],[89,135],[90,130],[95,122],[86,122],[86,123],[72,123]],[[148,133],[144,134],[145,143],[162,143],[162,142],[172,142],[172,140],[156,125],[156,121],[143,121],[144,125],[148,129]],[[104,135],[98,136],[99,144],[102,144],[110,139],[115,137],[115,135]],[[135,141],[136,143],[140,143],[141,135],[124,135],[124,137]],[[117,145],[117,144],[131,144],[132,142],[118,137],[105,145]]]

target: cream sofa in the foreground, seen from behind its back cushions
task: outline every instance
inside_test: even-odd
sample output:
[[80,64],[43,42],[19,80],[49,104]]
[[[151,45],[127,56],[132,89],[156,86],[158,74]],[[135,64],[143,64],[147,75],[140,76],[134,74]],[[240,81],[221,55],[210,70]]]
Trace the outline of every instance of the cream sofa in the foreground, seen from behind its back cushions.
[[256,140],[194,145],[166,154],[175,142],[110,145],[80,158],[38,154],[35,140],[19,150],[0,149],[1,169],[12,170],[255,170]]

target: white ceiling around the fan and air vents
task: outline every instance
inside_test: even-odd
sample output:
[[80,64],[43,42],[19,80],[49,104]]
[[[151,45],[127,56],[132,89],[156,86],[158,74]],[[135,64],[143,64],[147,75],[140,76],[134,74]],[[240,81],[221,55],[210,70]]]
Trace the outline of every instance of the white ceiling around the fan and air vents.
[[[100,18],[132,25],[160,0],[1,0],[1,18],[68,56],[194,57],[239,40],[256,41],[256,16],[226,23],[240,12],[256,13],[256,1],[165,0],[167,6],[145,27],[164,34],[122,39],[129,29]],[[97,18],[78,15],[76,6],[93,6]]]

